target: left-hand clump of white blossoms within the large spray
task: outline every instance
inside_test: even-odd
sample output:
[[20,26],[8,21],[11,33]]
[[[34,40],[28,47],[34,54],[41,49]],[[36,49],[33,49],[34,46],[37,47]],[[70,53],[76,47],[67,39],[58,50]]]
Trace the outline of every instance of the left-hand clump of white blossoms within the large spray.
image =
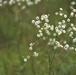
[[[44,37],[45,32],[47,35],[50,35],[50,30],[54,30],[54,26],[49,24],[49,14],[43,14],[41,17],[37,16],[36,20],[32,20],[32,23],[39,29],[37,37]],[[50,30],[49,30],[50,29]]]

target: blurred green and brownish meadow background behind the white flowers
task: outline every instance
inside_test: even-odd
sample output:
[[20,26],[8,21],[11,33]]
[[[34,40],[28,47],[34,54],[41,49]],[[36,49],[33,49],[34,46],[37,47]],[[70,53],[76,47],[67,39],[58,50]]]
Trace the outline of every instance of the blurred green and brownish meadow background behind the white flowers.
[[[29,43],[39,43],[37,30],[31,20],[42,14],[51,14],[50,23],[55,24],[58,19],[54,13],[63,8],[69,14],[71,1],[73,0],[42,0],[22,11],[17,6],[0,7],[0,75],[48,75],[48,62],[43,56],[44,43],[36,47],[43,47],[39,57],[31,58],[26,63],[23,61],[24,57],[31,54]],[[56,54],[53,63],[55,67],[52,68],[54,75],[76,75],[76,52],[58,51]],[[56,66],[60,61],[62,63]]]

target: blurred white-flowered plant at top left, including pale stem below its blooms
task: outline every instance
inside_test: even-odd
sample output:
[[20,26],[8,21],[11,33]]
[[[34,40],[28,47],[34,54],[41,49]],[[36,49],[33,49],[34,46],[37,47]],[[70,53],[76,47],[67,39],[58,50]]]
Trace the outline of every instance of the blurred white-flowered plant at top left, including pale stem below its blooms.
[[29,10],[29,7],[31,6],[39,4],[41,1],[42,0],[2,0],[2,2],[0,2],[0,8],[6,9],[5,11],[12,11],[14,15],[14,20],[16,22],[22,22],[22,15],[25,15],[26,10]]

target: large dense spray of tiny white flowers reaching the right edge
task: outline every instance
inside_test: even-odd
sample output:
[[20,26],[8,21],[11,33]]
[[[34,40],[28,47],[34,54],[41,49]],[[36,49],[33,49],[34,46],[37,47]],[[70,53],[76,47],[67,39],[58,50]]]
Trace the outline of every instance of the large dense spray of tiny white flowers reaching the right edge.
[[49,24],[49,14],[43,14],[41,17],[37,16],[35,20],[32,20],[32,23],[38,28],[37,37],[43,40],[48,39],[47,44],[52,45],[54,49],[62,48],[76,51],[76,24],[71,23],[72,17],[76,18],[75,12],[72,11],[70,15],[67,15],[60,8],[59,12],[55,12],[55,15],[63,18],[57,25]]

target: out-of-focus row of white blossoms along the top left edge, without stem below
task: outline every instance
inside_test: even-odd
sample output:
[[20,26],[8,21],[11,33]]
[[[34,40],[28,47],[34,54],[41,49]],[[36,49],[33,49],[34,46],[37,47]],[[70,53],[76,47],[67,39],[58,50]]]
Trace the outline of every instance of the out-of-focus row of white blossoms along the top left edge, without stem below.
[[34,4],[38,4],[39,2],[41,2],[41,0],[34,0],[34,1],[31,1],[31,0],[5,0],[3,1],[0,6],[3,6],[3,5],[17,5],[19,7],[21,7],[21,9],[25,9],[26,6],[32,6]]

